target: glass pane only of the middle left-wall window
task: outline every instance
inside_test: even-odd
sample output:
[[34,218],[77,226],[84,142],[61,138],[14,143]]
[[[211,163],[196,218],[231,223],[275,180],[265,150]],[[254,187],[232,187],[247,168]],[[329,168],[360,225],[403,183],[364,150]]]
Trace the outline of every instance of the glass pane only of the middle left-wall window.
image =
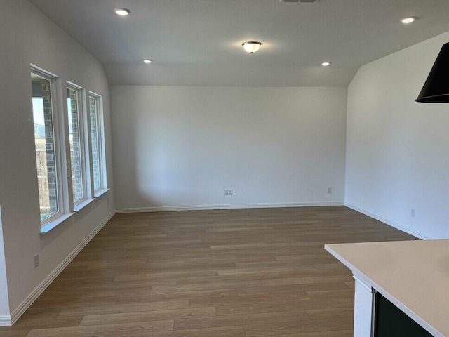
[[74,204],[84,197],[83,170],[81,159],[81,137],[79,129],[78,91],[67,88],[69,113],[70,161],[72,163],[72,187]]

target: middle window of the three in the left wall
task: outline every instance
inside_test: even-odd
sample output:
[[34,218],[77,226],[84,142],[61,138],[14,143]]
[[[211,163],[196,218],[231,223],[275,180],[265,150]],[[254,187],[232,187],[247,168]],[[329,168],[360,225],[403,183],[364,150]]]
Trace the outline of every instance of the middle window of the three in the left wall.
[[83,156],[83,120],[80,107],[81,88],[67,86],[70,162],[72,171],[72,199],[74,206],[86,199],[86,179]]

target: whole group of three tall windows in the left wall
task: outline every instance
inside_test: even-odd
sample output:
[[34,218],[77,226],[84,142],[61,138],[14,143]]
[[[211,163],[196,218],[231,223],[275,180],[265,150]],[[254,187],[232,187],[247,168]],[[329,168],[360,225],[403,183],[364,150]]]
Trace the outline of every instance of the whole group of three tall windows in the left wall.
[[31,84],[39,213],[45,233],[107,191],[102,98],[89,93],[86,102],[86,91],[67,82],[67,107],[62,110],[65,91],[58,77],[32,65]]

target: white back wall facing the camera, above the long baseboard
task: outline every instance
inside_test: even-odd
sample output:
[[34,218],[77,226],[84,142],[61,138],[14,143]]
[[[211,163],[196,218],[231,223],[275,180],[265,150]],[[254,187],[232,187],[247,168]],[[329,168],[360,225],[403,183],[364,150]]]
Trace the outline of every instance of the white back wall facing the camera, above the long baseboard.
[[118,210],[344,201],[347,88],[112,86],[111,99]]

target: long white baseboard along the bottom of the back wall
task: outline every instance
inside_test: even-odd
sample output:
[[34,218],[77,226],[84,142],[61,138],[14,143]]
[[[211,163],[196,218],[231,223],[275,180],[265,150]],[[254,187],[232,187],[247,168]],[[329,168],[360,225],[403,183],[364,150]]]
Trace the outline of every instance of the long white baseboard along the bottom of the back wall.
[[279,207],[312,207],[312,206],[344,206],[342,202],[289,202],[281,204],[225,204],[225,205],[193,205],[193,206],[156,206],[135,209],[116,209],[116,213],[147,213],[171,211],[201,211],[208,209],[269,209]]

